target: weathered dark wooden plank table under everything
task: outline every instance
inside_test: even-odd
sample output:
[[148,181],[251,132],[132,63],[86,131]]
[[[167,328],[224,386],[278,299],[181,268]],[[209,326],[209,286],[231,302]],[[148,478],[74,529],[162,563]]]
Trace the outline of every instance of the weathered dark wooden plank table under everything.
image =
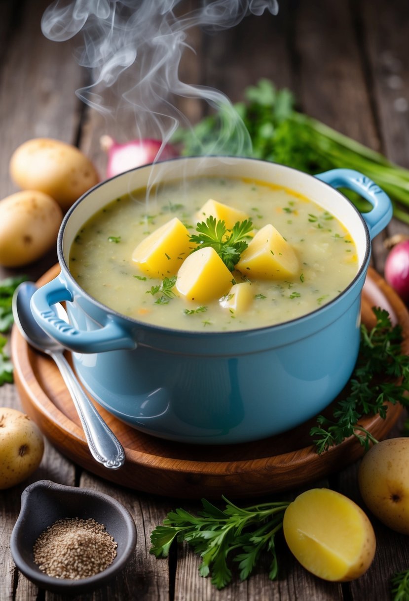
[[[0,4],[0,195],[16,191],[8,175],[8,160],[20,143],[44,136],[79,145],[94,160],[101,175],[106,156],[100,150],[102,133],[124,137],[112,123],[81,103],[75,90],[85,73],[73,58],[75,43],[47,40],[40,29],[44,0],[11,0]],[[296,93],[300,108],[324,123],[389,159],[409,167],[409,4],[406,0],[283,0],[278,16],[268,13],[248,17],[240,25],[215,35],[199,29],[191,32],[196,55],[189,54],[181,78],[215,87],[236,101],[243,88],[261,77]],[[204,110],[196,100],[184,100],[184,112],[197,120]],[[128,123],[128,136],[132,124]],[[386,251],[383,237],[408,233],[393,220],[387,232],[374,241],[372,265],[383,272]],[[0,270],[0,278],[27,273],[37,279],[56,263],[50,252],[23,270]],[[0,388],[0,406],[21,409],[14,385]],[[398,434],[399,430],[393,432]],[[1,458],[0,458],[1,460]],[[360,502],[357,465],[320,481]],[[199,502],[155,497],[109,483],[84,471],[46,444],[40,468],[29,481],[0,491],[0,599],[30,601],[59,599],[39,591],[19,573],[11,559],[9,540],[25,486],[35,480],[91,487],[109,493],[131,511],[137,525],[134,557],[121,576],[108,586],[77,599],[141,601],[157,599],[214,600],[280,599],[302,601],[390,599],[389,578],[409,568],[407,537],[396,534],[373,519],[377,554],[368,572],[348,584],[330,584],[311,576],[279,543],[279,578],[269,581],[259,570],[249,581],[216,591],[200,578],[198,558],[185,547],[174,549],[170,560],[149,555],[149,535],[167,511],[184,506],[192,511]],[[296,491],[291,492],[291,495]]]

